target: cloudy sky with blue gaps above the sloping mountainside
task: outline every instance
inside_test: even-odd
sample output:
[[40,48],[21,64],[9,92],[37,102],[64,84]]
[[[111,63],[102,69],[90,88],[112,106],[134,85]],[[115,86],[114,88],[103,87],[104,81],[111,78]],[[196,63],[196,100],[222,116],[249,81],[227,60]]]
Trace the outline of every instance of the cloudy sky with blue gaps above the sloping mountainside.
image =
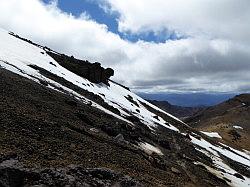
[[0,27],[140,93],[250,92],[249,0],[0,0]]

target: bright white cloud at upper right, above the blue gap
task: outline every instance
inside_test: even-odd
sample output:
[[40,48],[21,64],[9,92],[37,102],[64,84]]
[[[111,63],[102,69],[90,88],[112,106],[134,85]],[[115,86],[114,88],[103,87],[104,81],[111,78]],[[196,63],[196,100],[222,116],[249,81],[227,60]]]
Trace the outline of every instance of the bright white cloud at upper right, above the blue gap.
[[249,0],[103,0],[120,14],[120,31],[163,29],[250,41]]

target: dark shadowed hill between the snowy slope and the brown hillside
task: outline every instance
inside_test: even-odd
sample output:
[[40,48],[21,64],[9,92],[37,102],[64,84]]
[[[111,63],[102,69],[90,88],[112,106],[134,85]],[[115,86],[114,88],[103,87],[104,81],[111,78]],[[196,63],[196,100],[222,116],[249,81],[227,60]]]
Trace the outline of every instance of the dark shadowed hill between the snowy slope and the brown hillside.
[[147,100],[147,101],[180,119],[185,119],[186,117],[193,116],[196,113],[206,108],[206,107],[182,107],[182,106],[172,105],[167,101],[157,101],[157,100]]

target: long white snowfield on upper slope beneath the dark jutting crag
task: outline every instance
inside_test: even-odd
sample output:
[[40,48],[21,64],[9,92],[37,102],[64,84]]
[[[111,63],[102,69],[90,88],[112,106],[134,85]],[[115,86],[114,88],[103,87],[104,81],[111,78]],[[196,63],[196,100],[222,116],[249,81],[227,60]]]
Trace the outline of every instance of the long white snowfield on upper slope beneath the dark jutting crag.
[[[121,87],[120,85],[115,84],[111,81],[109,82],[110,86],[107,86],[102,83],[94,84],[89,80],[84,79],[62,67],[53,58],[51,58],[43,48],[34,46],[30,43],[20,40],[10,35],[5,30],[0,30],[0,38],[1,38],[1,43],[0,43],[1,67],[6,68],[24,77],[30,78],[32,80],[37,79],[36,80],[37,82],[39,82],[38,80],[44,80],[49,83],[50,88],[53,88],[53,85],[56,84],[57,87],[61,87],[66,92],[70,92],[71,94],[79,98],[79,94],[75,93],[70,88],[66,88],[65,86],[62,86],[59,83],[55,83],[55,81],[50,80],[49,78],[40,74],[39,71],[30,67],[30,65],[38,66],[40,68],[49,71],[54,75],[57,75],[58,77],[64,78],[68,82],[84,90],[87,90],[89,92],[98,95],[99,97],[104,99],[104,101],[107,104],[113,106],[114,108],[117,108],[122,115],[122,117],[119,118],[123,119],[126,122],[127,122],[127,120],[125,120],[126,116],[134,115],[152,129],[153,127],[156,127],[157,124],[160,124],[168,129],[179,131],[179,129],[167,123],[161,117],[158,117],[156,119],[155,114],[147,110],[142,103],[146,103],[150,107],[154,107],[154,109],[163,112],[162,110],[151,105],[150,103],[146,102],[139,96]],[[84,96],[81,97],[83,98]],[[128,98],[131,98],[137,104],[133,104],[131,101],[129,101]],[[85,98],[85,100],[87,99]],[[94,105],[94,107],[102,109],[103,111],[118,117],[117,115],[113,114],[113,112],[108,111],[107,109],[104,109],[103,107],[97,104]],[[173,117],[170,114],[167,115]],[[177,118],[175,119],[180,121]]]

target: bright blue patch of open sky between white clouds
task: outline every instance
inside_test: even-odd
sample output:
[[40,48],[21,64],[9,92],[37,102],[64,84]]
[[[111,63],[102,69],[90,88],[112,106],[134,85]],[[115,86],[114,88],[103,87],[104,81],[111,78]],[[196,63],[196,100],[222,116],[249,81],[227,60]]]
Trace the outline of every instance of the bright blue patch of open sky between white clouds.
[[[51,0],[43,0],[44,3],[49,3]],[[93,0],[58,0],[58,8],[63,12],[71,13],[72,15],[79,17],[83,12],[86,12],[91,19],[100,24],[105,24],[108,30],[118,34],[122,39],[129,40],[131,42],[137,42],[143,40],[147,42],[163,43],[166,40],[178,40],[184,38],[180,37],[174,31],[168,31],[164,29],[155,34],[153,31],[144,32],[140,34],[132,34],[131,32],[119,32],[117,19],[118,13],[106,13],[96,1]]]

